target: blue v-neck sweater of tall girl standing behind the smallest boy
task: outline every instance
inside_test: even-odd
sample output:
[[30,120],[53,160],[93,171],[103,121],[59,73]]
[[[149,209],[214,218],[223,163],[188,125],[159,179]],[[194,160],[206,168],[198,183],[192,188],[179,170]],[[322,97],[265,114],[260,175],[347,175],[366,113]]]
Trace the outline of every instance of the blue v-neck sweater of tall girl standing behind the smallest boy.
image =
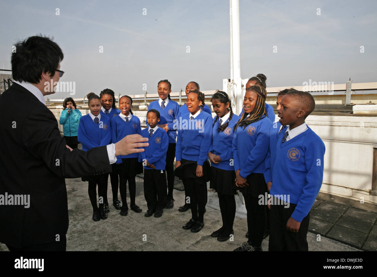
[[169,143],[176,143],[177,130],[173,130],[173,120],[179,116],[179,104],[175,101],[169,100],[164,109],[158,103],[158,100],[149,104],[148,110],[158,110],[160,113],[160,121],[158,124],[168,124],[169,130],[167,135],[169,136]]

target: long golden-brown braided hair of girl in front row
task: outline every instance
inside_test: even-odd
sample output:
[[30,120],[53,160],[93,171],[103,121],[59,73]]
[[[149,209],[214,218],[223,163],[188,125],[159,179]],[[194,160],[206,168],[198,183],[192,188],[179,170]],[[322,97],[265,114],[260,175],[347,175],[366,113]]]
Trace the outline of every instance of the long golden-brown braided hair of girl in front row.
[[254,109],[250,113],[250,116],[247,119],[246,119],[247,113],[245,112],[245,109],[244,109],[244,111],[242,112],[241,118],[239,119],[237,124],[234,125],[234,131],[236,131],[238,126],[244,127],[245,129],[247,125],[253,122],[257,122],[259,119],[264,118],[264,116],[268,116],[267,111],[266,111],[266,104],[265,104],[266,95],[267,95],[266,89],[261,86],[251,86],[248,89],[246,89],[247,92],[250,90],[256,92],[257,94],[257,99],[256,99]]

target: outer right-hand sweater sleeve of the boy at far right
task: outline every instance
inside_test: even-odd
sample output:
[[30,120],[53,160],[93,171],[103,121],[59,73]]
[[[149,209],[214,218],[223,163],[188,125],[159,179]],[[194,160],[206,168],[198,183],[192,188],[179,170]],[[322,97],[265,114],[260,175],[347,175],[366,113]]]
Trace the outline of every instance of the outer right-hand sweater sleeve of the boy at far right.
[[323,156],[325,145],[320,138],[310,141],[305,148],[306,184],[291,217],[301,222],[308,215],[319,193],[323,180]]

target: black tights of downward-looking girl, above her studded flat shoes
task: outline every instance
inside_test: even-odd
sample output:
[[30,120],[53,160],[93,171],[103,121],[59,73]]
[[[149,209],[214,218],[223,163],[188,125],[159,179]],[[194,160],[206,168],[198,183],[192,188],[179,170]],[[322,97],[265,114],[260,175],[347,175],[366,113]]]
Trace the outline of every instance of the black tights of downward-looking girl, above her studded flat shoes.
[[233,234],[233,222],[234,216],[236,215],[236,200],[234,195],[217,193],[219,197],[221,218],[222,218],[222,230],[221,235],[228,237],[230,234]]

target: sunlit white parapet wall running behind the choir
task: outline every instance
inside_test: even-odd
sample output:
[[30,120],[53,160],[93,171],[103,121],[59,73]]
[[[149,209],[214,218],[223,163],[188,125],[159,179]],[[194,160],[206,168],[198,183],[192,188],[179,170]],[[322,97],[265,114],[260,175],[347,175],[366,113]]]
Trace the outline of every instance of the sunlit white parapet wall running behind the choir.
[[[51,109],[62,132],[59,124],[61,110]],[[80,112],[86,115],[89,110],[80,109]],[[134,111],[142,125],[146,113]],[[377,204],[377,196],[371,193],[377,117],[310,115],[306,122],[326,147],[321,191],[354,199],[363,197],[365,202]]]

